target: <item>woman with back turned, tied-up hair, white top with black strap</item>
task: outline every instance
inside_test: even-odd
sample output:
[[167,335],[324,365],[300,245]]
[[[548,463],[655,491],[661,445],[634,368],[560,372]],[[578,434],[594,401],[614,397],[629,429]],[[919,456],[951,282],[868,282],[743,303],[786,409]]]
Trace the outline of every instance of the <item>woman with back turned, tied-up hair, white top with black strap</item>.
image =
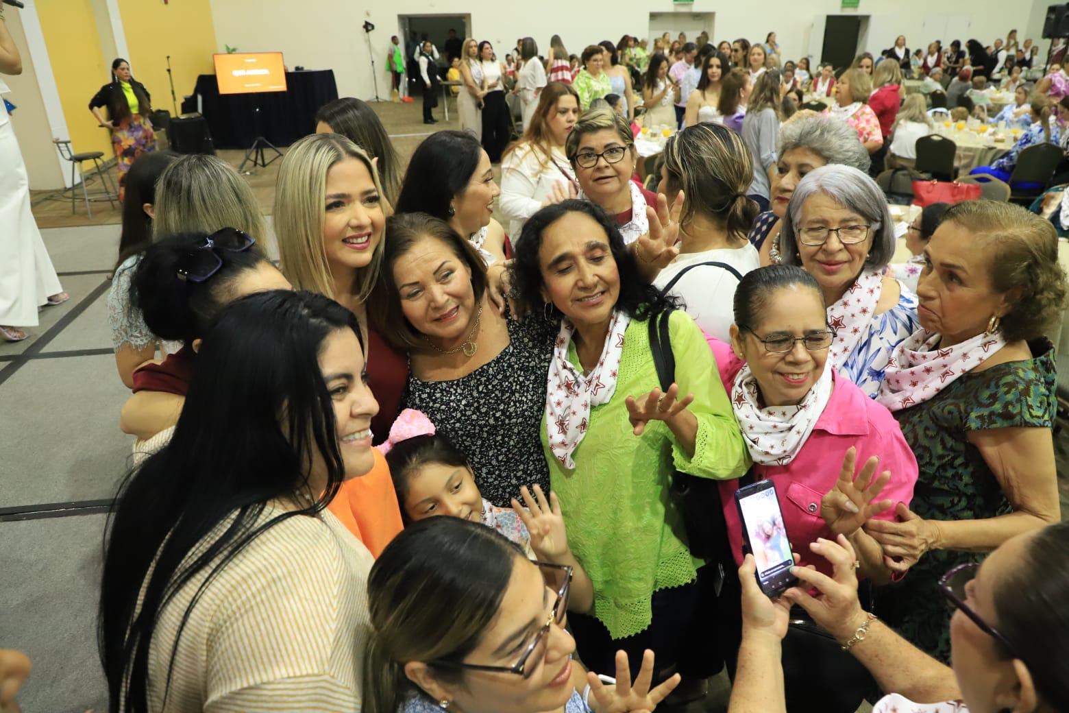
[[[760,266],[746,233],[757,203],[746,197],[754,160],[742,137],[723,124],[688,126],[665,143],[660,192],[683,191],[680,254],[654,284],[683,300],[683,309],[711,337],[730,339],[734,291]],[[717,264],[703,264],[717,263]]]

